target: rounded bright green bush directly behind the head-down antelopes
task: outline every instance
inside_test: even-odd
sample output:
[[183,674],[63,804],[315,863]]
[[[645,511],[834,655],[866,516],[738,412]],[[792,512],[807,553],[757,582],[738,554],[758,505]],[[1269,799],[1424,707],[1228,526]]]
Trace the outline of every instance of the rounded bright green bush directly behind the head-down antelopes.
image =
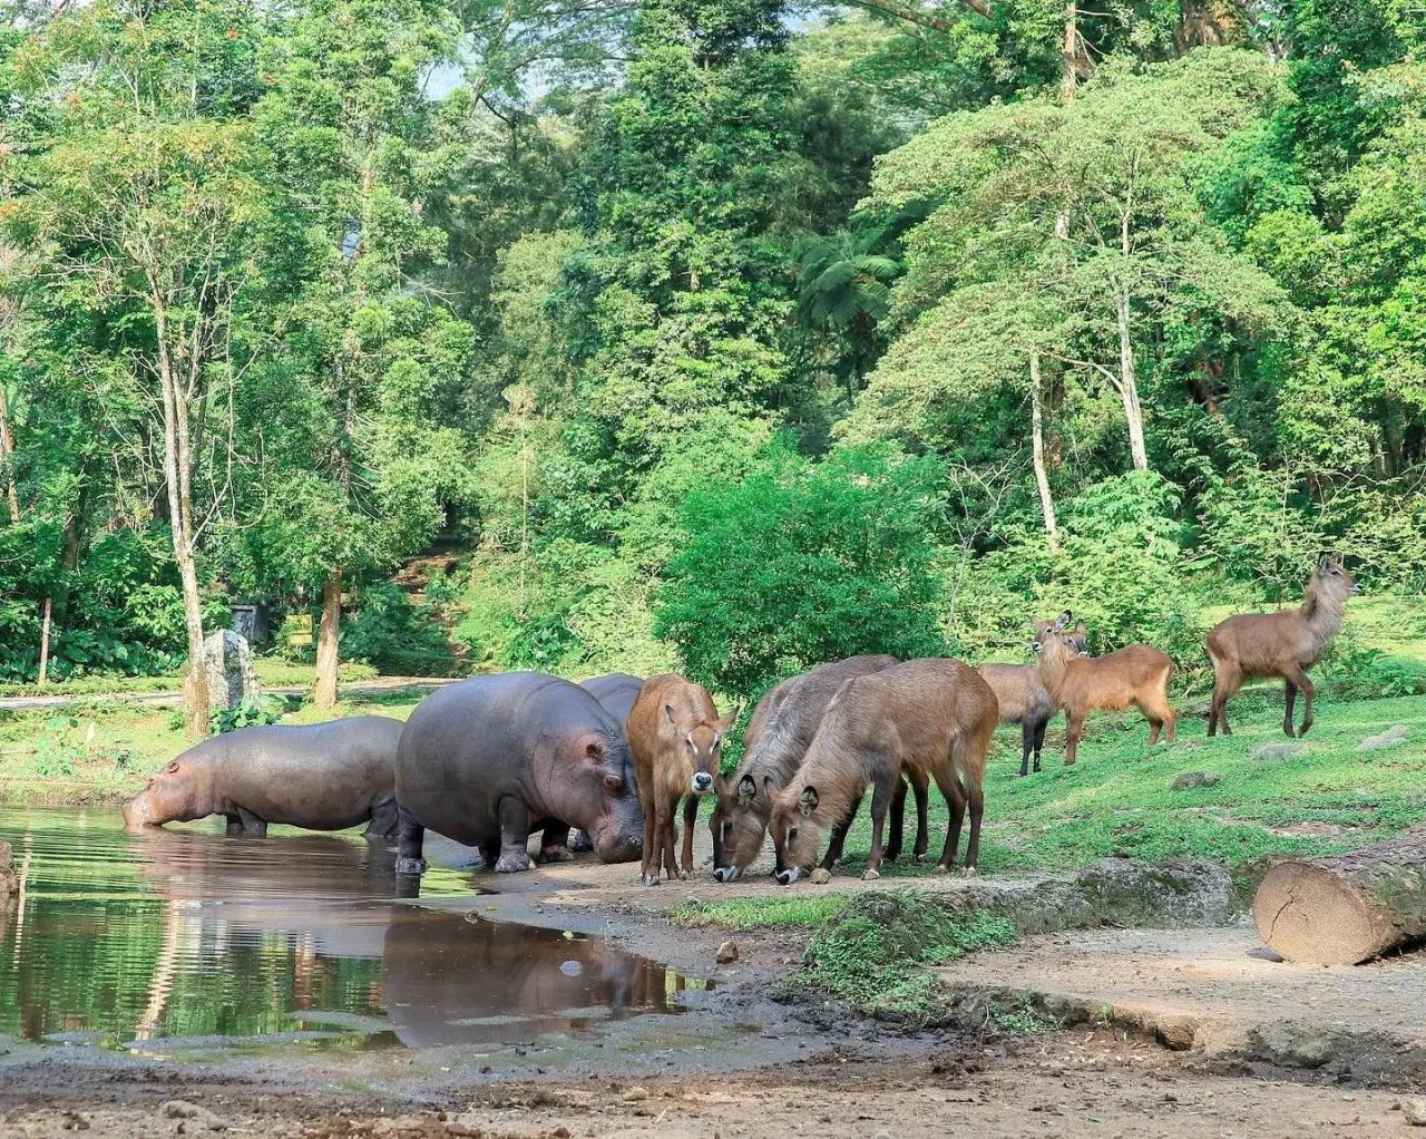
[[814,464],[777,448],[747,480],[690,494],[655,635],[689,677],[743,698],[858,652],[941,652],[938,474],[881,451]]

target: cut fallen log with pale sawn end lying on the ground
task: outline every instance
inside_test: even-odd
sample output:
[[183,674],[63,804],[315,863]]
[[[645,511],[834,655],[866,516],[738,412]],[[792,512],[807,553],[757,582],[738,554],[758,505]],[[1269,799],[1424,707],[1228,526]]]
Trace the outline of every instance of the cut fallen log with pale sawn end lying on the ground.
[[1288,961],[1359,965],[1426,938],[1426,832],[1279,862],[1252,903],[1258,933]]

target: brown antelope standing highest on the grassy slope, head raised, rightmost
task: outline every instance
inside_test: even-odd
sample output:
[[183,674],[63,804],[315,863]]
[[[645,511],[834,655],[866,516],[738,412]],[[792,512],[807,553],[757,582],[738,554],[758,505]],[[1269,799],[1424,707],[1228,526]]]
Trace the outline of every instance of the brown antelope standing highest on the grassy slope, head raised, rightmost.
[[1359,592],[1362,588],[1342,568],[1342,562],[1323,557],[1308,588],[1302,591],[1302,605],[1296,609],[1239,614],[1215,625],[1208,634],[1208,655],[1214,662],[1214,702],[1208,709],[1208,734],[1214,735],[1222,724],[1224,735],[1232,735],[1228,727],[1228,701],[1242,688],[1243,679],[1282,677],[1288,685],[1282,729],[1289,736],[1293,735],[1292,705],[1301,688],[1306,708],[1298,735],[1306,735],[1312,727],[1312,697],[1316,694],[1306,669],[1322,659],[1328,644],[1342,628],[1346,599]]

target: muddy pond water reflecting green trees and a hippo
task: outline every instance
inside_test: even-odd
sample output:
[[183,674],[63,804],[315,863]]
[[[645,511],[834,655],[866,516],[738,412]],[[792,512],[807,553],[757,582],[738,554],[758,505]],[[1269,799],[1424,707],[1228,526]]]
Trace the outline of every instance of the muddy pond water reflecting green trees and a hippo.
[[[0,808],[0,839],[23,878],[0,909],[0,1036],[147,1053],[499,1045],[676,1012],[700,986],[597,938],[396,899],[389,848],[354,834],[134,836],[113,811]],[[488,881],[436,868],[421,892]]]

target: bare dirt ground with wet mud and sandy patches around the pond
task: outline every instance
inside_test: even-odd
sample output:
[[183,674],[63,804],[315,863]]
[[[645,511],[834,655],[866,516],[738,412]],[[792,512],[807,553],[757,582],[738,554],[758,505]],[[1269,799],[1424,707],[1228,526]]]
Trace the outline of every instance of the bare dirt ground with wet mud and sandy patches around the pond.
[[[462,852],[432,844],[428,854],[453,862]],[[489,885],[498,894],[412,903],[597,933],[712,981],[712,991],[699,993],[692,1009],[679,1016],[609,1025],[593,1043],[562,1041],[482,1055],[448,1046],[175,1060],[96,1056],[94,1049],[0,1041],[0,1136],[227,1130],[292,1139],[873,1139],[964,1128],[992,1136],[1174,1139],[1412,1133],[1406,1122],[1415,1110],[1410,1096],[1420,1093],[1412,1079],[1375,1089],[1353,1080],[1349,1070],[1263,1065],[1205,1048],[1171,1051],[1156,1043],[1151,1031],[1135,1029],[1128,1018],[1124,1023],[1109,1018],[1030,1036],[992,1025],[918,1033],[817,1002],[789,1001],[776,982],[796,968],[804,931],[730,935],[682,929],[663,919],[669,906],[686,898],[774,894],[783,888],[764,876],[730,888],[706,875],[646,888],[635,882],[635,875],[632,865],[580,861],[492,878]],[[961,882],[928,876],[863,884],[847,876],[833,879],[830,888],[891,885],[940,891],[957,889]],[[1004,881],[1005,889],[1024,885]],[[1228,933],[1228,942],[1219,941],[1216,948],[1205,942],[1202,952],[1181,933],[1138,943],[1125,941],[1132,931],[1054,935],[1002,953],[968,958],[948,966],[944,978],[954,992],[1050,991],[1055,978],[1035,971],[1058,971],[1061,988],[1068,991],[1077,963],[1097,963],[1079,978],[1087,982],[1079,986],[1085,999],[1128,1006],[1145,999],[1145,993],[1186,999],[1204,988],[1204,976],[1216,973],[1222,985],[1205,989],[1205,999],[1219,1002],[1211,1009],[1218,1016],[1222,1002],[1233,1003],[1235,972],[1251,978],[1272,965],[1251,958],[1243,941],[1251,933]],[[736,939],[739,959],[717,966],[714,952],[727,936]],[[1115,936],[1121,941],[1115,942]],[[1127,962],[1125,955],[1137,959]],[[1378,1003],[1363,1008],[1390,1009],[1395,1001],[1399,1021],[1405,1023],[1419,1011],[1416,1023],[1426,1023],[1419,963],[1397,965],[1412,972],[1378,971],[1382,983],[1396,986],[1395,996],[1368,993]],[[1322,978],[1281,976],[1285,988],[1269,995],[1266,1005],[1309,1005],[1322,998]],[[1366,999],[1360,985],[1370,985],[1370,978],[1363,978],[1365,972],[1346,981],[1358,986],[1350,989],[1353,999]],[[1350,1006],[1343,1008],[1342,1015],[1350,1016]]]

